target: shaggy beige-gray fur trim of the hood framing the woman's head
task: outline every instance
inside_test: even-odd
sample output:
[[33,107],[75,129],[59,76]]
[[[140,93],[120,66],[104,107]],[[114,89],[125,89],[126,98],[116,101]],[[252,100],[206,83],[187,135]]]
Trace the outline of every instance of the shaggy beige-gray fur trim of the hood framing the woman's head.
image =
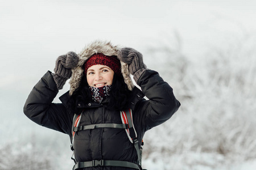
[[[72,95],[73,92],[79,87],[82,76],[84,75],[83,65],[88,58],[90,58],[94,53],[103,53],[106,56],[117,56],[119,49],[121,48],[112,45],[112,43],[108,41],[97,40],[86,45],[85,48],[78,54],[79,62],[77,66],[72,69],[72,76],[69,82],[69,95]],[[127,84],[129,90],[133,90],[134,84],[130,77],[128,65],[122,61],[120,62],[123,79],[125,80],[125,83]]]

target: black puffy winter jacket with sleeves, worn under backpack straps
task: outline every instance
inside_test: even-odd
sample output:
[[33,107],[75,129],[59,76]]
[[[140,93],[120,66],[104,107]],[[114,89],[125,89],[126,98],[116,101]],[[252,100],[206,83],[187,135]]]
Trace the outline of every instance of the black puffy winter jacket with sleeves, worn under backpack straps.
[[[180,107],[172,88],[156,71],[146,70],[138,80],[142,91],[134,87],[130,108],[133,110],[134,126],[138,141],[144,133],[167,121]],[[34,86],[26,103],[24,113],[36,124],[61,131],[72,137],[72,120],[75,113],[67,111],[68,92],[60,97],[61,104],[52,103],[58,90],[48,71]],[[143,97],[149,100],[145,100]],[[80,125],[122,124],[119,112],[110,111],[104,104],[79,103],[84,108]],[[139,142],[141,146],[141,142]],[[96,128],[82,130],[75,135],[75,159],[77,162],[91,160],[125,160],[137,162],[137,152],[129,141],[125,130],[114,128]],[[90,167],[88,169],[131,169],[121,167]]]

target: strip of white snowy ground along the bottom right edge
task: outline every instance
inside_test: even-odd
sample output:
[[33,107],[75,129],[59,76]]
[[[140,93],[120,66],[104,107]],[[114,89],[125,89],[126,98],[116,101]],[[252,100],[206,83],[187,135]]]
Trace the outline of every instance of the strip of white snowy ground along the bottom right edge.
[[162,159],[146,159],[142,165],[143,168],[151,170],[253,170],[256,168],[256,160],[229,162],[225,156],[220,154],[191,152],[184,155],[171,155],[168,162],[163,162]]

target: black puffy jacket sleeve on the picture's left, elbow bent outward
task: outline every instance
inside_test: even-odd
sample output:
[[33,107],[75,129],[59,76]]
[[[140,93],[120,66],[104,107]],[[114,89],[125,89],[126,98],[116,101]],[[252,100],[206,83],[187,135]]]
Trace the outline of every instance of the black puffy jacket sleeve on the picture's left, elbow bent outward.
[[63,104],[52,103],[58,92],[51,71],[48,71],[28,95],[23,112],[36,124],[69,134],[71,115]]

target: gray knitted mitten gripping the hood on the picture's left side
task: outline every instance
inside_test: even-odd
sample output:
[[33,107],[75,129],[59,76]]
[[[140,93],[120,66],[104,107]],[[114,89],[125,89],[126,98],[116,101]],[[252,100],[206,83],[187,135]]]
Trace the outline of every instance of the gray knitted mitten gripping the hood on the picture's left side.
[[71,78],[73,67],[77,66],[79,62],[79,57],[74,52],[68,52],[65,55],[62,55],[56,59],[55,69],[53,74],[53,79],[57,85],[57,88],[60,90],[63,88],[65,82]]

